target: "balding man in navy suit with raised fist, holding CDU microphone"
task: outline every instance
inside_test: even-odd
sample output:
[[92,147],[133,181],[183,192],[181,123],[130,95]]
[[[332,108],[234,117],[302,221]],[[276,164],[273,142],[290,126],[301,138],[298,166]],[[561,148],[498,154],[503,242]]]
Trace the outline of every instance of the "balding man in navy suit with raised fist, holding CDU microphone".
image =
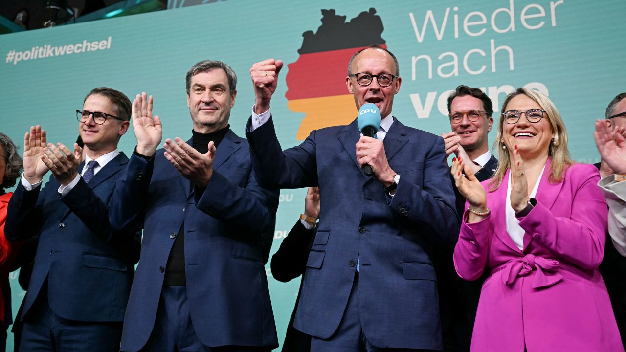
[[270,59],[250,70],[256,101],[247,136],[261,185],[319,186],[321,220],[294,327],[312,336],[311,351],[441,349],[431,254],[459,229],[443,139],[392,116],[398,61],[372,46],[352,56],[346,85],[357,108],[380,109],[376,138],[361,136],[354,120],[283,152],[269,111],[280,68]]

